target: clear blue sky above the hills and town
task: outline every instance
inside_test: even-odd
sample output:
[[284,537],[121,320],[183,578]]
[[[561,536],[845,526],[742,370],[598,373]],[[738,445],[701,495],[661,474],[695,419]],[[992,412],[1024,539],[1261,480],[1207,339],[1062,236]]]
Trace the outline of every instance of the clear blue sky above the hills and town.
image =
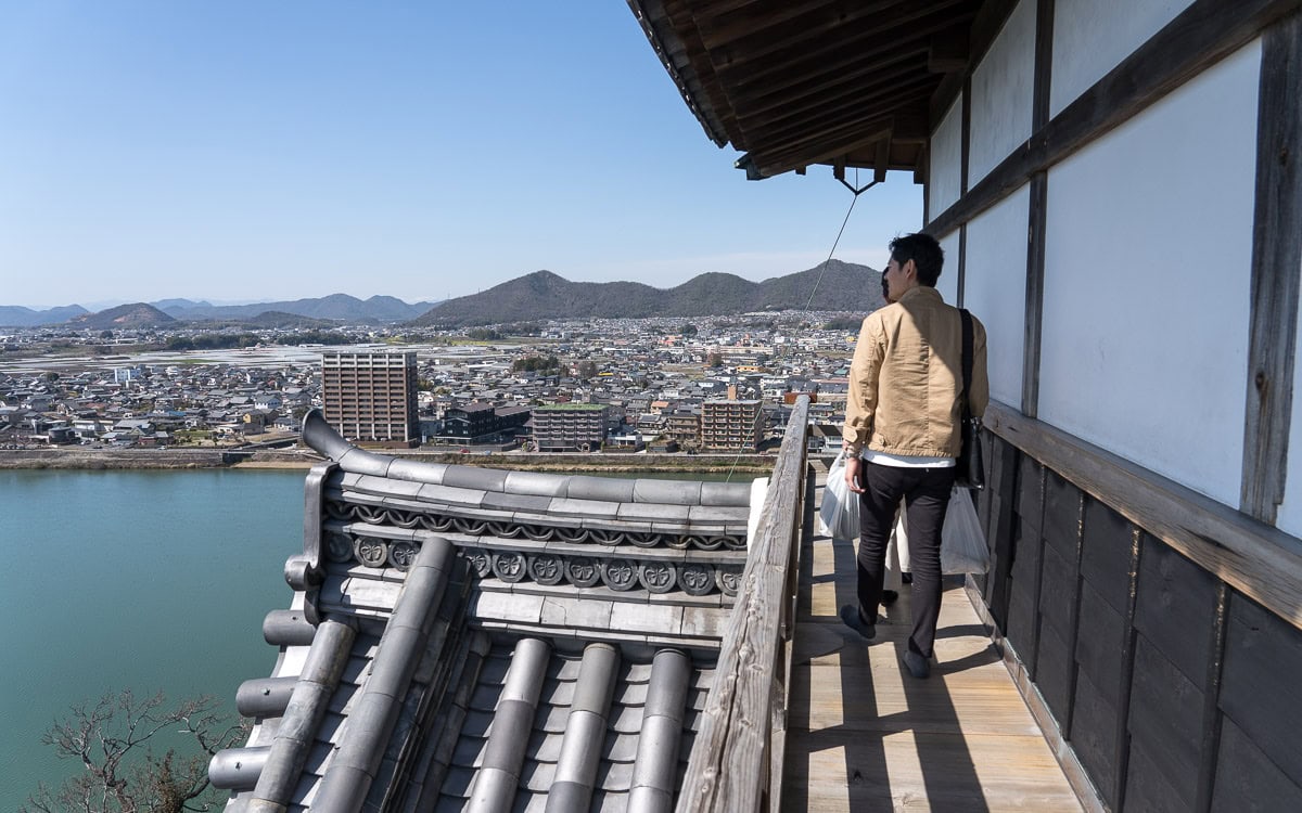
[[[615,0],[0,0],[0,304],[820,263],[850,193],[737,157]],[[921,220],[891,173],[836,256],[880,267]]]

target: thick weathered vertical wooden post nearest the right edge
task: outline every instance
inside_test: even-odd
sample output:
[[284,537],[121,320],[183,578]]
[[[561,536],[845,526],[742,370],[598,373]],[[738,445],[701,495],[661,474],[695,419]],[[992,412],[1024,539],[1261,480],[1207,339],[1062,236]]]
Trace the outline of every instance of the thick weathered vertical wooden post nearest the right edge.
[[1302,276],[1302,14],[1262,35],[1255,207],[1240,510],[1275,524],[1288,477]]

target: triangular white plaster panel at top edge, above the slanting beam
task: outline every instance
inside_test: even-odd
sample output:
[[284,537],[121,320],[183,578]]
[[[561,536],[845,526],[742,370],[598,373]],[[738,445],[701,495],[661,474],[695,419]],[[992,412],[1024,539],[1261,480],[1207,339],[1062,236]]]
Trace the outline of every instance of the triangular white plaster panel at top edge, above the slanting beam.
[[1049,116],[1121,64],[1193,0],[1068,0],[1053,9]]

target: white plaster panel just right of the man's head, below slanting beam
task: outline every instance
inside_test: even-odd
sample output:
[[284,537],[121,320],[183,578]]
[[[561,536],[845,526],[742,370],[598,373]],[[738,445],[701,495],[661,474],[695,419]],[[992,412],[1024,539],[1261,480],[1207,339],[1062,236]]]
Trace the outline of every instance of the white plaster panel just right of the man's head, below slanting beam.
[[1013,408],[1022,405],[1030,199],[1023,186],[967,224],[963,306],[986,325],[991,398]]

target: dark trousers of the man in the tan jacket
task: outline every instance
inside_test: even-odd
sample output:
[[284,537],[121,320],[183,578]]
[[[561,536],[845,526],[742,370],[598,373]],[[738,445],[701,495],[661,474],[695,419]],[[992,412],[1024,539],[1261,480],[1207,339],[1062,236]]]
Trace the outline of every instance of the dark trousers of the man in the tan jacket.
[[859,610],[878,617],[885,578],[887,542],[904,498],[909,518],[909,568],[913,571],[913,633],[909,649],[931,657],[940,620],[940,529],[945,524],[954,468],[900,468],[865,462],[859,467]]

